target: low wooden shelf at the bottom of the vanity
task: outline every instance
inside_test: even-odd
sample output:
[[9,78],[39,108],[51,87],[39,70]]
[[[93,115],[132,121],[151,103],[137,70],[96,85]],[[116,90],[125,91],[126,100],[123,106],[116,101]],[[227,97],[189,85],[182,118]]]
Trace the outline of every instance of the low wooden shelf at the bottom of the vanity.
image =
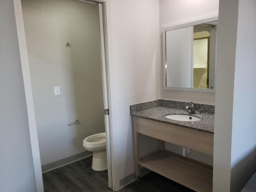
[[159,150],[138,162],[154,172],[195,191],[212,191],[212,166]]

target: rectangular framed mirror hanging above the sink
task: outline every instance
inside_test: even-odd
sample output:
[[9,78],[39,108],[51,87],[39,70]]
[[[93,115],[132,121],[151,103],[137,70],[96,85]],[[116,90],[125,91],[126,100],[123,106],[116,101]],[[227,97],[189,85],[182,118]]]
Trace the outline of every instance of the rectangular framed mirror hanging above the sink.
[[215,91],[217,25],[212,20],[164,30],[165,90]]

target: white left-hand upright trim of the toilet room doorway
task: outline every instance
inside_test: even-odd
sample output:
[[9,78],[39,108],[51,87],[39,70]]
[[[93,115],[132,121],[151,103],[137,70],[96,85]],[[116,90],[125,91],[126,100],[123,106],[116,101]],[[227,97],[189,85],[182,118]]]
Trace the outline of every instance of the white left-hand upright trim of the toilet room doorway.
[[22,14],[22,3],[20,0],[14,0],[13,4],[14,4],[15,19],[16,19],[19,54],[20,54],[20,61],[22,63],[22,74],[23,74],[23,81],[24,81],[24,87],[25,87],[27,111],[28,111],[29,133],[30,133],[30,142],[31,142],[31,149],[32,149],[34,172],[35,172],[36,189],[37,189],[37,192],[44,192],[44,185],[42,183],[42,170],[41,170],[39,144],[38,144],[38,137],[37,137],[36,121],[35,121],[34,102],[33,102],[33,95],[32,95],[32,85],[31,85],[30,70],[29,70],[29,59],[28,59],[25,28],[24,28],[23,14]]

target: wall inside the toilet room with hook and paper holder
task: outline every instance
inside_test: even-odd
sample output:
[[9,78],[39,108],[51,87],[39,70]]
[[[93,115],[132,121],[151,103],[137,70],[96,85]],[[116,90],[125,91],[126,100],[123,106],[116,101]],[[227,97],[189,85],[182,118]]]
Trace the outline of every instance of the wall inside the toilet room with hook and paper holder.
[[[23,0],[22,6],[45,165],[84,152],[83,139],[105,130],[99,9],[71,0]],[[54,96],[55,86],[61,96]],[[76,119],[80,124],[68,126]]]

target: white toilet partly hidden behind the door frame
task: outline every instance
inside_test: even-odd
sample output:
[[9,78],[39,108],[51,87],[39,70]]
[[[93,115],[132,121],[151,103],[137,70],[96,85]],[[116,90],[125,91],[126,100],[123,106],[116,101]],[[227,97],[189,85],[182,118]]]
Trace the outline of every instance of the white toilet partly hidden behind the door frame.
[[83,147],[93,152],[93,170],[108,169],[106,160],[106,133],[91,135],[83,140]]

